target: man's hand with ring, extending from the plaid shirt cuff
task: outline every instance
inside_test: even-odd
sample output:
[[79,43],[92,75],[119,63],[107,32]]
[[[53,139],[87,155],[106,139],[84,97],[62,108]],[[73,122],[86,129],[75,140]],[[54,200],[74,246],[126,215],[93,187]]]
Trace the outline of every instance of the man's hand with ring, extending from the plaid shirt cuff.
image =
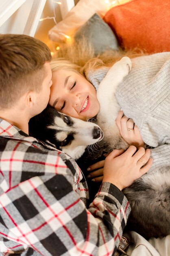
[[130,146],[125,152],[113,150],[105,159],[103,182],[110,182],[120,190],[130,186],[135,180],[146,173],[152,165],[150,149]]

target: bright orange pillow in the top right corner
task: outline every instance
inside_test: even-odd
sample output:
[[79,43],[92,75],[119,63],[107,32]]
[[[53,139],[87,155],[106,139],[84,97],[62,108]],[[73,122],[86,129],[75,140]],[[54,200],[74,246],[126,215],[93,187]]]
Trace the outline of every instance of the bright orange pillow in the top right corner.
[[131,0],[104,17],[124,49],[170,52],[170,1]]

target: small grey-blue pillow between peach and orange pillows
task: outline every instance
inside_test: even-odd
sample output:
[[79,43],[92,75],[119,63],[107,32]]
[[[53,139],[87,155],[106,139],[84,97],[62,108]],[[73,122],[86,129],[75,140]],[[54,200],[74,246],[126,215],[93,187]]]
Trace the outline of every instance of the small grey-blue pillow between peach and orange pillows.
[[75,41],[85,38],[92,45],[95,56],[106,50],[117,50],[118,41],[113,31],[96,13],[76,31]]

